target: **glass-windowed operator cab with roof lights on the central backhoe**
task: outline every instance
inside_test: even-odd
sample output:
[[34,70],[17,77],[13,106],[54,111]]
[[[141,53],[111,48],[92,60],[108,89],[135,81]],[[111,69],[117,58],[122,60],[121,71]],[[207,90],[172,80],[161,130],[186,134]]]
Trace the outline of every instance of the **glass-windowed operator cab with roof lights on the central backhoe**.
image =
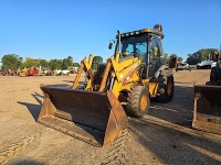
[[[144,29],[117,35],[115,54],[120,53],[119,62],[138,57],[144,64],[146,77],[154,77],[160,68],[164,55],[161,40],[164,34],[157,30]],[[120,43],[120,45],[119,45]]]

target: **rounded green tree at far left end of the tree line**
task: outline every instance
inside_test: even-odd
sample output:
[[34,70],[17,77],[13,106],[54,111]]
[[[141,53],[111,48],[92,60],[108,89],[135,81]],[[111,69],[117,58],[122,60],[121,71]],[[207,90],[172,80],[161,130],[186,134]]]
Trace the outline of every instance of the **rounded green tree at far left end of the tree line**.
[[22,57],[15,54],[8,54],[1,58],[2,67],[8,69],[17,69],[22,66]]

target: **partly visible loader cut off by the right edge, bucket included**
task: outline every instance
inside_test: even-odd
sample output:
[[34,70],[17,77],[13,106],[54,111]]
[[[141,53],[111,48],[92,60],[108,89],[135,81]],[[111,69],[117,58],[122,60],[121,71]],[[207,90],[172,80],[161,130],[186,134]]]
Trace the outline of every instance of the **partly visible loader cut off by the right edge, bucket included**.
[[210,81],[194,86],[192,128],[221,134],[221,61],[215,52]]

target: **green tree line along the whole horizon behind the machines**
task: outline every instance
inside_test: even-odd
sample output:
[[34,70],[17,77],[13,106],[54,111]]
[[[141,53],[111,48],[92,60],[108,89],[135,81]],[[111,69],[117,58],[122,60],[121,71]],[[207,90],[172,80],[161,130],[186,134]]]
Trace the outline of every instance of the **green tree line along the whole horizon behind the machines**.
[[[193,54],[188,54],[188,58],[186,61],[186,63],[190,64],[190,65],[196,65],[202,61],[206,59],[211,59],[212,61],[212,56],[214,54],[214,52],[218,52],[217,48],[202,48],[197,51]],[[166,62],[169,62],[169,58],[171,56],[177,56],[176,54],[171,54],[170,56],[168,56],[168,54],[165,54],[165,58]],[[182,57],[177,56],[177,61],[181,62]],[[94,61],[93,61],[93,69],[95,69],[96,64],[97,63],[102,63],[103,58],[101,56],[94,56]],[[66,58],[63,59],[34,59],[32,57],[27,57],[24,61],[22,57],[20,57],[19,55],[15,54],[7,54],[3,55],[3,57],[1,58],[1,69],[3,68],[9,68],[9,69],[22,69],[22,68],[31,68],[31,67],[43,67],[43,68],[50,68],[52,70],[54,69],[67,69],[67,67],[78,67],[80,64],[78,63],[74,63],[73,62],[73,57],[67,56]]]

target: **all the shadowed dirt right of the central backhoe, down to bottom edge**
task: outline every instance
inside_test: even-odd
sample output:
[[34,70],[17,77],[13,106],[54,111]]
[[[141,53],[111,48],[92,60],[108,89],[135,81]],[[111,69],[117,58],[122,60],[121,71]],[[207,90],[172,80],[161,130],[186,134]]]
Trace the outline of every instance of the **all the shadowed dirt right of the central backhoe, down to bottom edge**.
[[214,140],[210,133],[189,129],[193,95],[193,87],[176,86],[171,102],[151,101],[147,116],[141,119],[129,118],[128,130],[164,164],[221,163],[221,141]]

